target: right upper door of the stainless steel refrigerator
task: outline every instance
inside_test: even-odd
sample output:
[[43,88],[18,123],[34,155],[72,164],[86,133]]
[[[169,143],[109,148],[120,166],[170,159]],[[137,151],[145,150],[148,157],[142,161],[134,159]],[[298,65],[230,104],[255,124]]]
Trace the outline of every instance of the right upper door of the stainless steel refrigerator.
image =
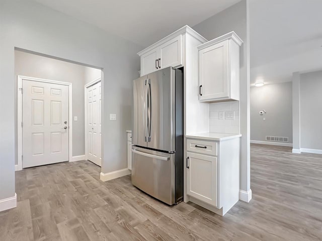
[[147,75],[147,147],[175,151],[175,70]]

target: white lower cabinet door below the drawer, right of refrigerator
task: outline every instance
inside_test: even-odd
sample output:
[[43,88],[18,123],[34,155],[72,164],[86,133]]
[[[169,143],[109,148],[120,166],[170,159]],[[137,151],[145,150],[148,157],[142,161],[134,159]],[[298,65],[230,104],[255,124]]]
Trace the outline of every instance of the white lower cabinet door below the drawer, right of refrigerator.
[[187,157],[187,194],[216,207],[217,158],[190,152]]

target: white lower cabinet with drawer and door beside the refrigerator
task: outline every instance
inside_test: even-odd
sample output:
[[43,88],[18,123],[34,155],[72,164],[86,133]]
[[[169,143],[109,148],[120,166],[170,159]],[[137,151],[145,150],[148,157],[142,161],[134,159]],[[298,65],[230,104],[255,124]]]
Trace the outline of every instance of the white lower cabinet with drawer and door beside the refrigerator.
[[239,200],[239,138],[187,138],[184,201],[224,215]]

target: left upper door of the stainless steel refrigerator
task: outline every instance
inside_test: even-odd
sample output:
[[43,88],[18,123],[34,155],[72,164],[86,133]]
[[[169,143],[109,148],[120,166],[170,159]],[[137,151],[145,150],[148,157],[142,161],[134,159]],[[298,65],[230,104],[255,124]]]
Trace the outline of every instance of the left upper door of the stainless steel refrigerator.
[[132,144],[147,147],[147,76],[133,80],[133,129]]

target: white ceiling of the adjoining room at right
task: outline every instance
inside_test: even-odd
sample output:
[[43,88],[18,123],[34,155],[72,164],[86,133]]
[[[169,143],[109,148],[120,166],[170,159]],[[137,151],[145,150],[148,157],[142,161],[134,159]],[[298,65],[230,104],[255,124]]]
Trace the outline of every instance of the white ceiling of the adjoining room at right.
[[250,4],[251,83],[291,81],[322,68],[322,1],[260,0]]

